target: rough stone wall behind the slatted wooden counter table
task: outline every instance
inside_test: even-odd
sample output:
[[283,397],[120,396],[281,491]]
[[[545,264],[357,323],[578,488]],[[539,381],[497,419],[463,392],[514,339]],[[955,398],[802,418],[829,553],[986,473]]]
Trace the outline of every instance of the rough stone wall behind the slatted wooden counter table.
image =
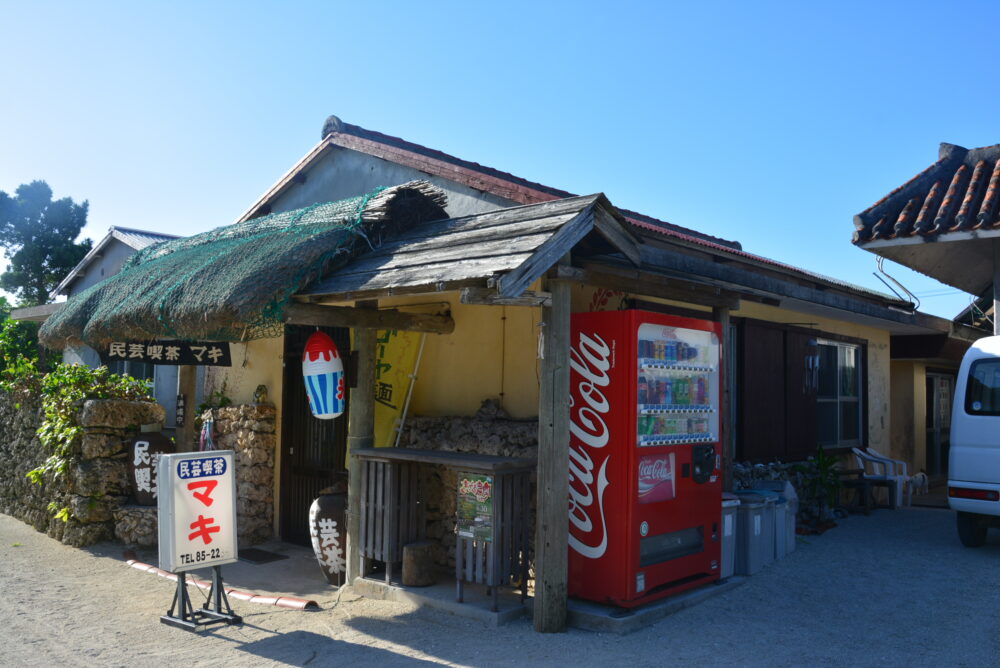
[[[473,417],[407,418],[400,446],[424,450],[475,452],[502,457],[538,456],[538,420],[515,420],[492,400],[483,402]],[[421,494],[426,503],[427,538],[436,544],[435,561],[455,569],[455,512],[458,479],[443,466],[421,467]],[[529,545],[535,544],[535,484],[531,485]],[[529,561],[532,560],[529,554]]]

